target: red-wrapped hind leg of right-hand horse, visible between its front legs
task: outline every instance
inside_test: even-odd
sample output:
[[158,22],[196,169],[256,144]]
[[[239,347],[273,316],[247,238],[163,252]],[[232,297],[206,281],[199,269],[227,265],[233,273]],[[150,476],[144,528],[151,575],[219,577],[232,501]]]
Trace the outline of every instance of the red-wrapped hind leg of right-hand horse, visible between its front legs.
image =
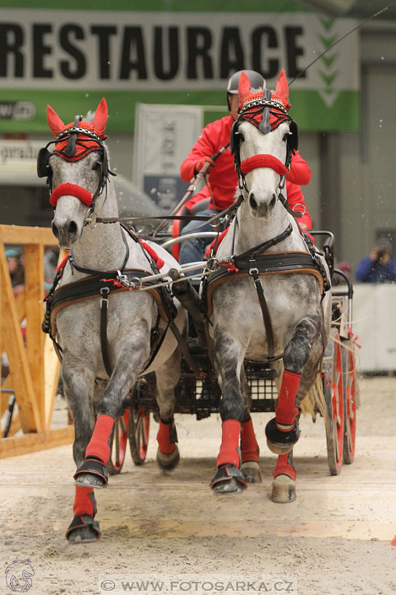
[[249,484],[261,483],[263,479],[258,466],[260,449],[250,416],[251,388],[247,382],[244,366],[241,370],[241,390],[244,397],[244,416],[241,423],[241,471]]

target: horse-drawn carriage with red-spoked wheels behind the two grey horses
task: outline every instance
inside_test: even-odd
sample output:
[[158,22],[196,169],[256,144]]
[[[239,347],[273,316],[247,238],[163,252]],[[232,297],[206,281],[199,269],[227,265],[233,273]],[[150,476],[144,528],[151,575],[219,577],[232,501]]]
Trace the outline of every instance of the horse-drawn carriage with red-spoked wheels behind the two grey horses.
[[[205,205],[203,205],[205,208]],[[199,212],[196,210],[195,212]],[[208,236],[210,236],[210,232]],[[212,235],[213,232],[212,232]],[[332,279],[341,278],[342,283],[332,288],[331,339],[323,358],[323,368],[318,370],[318,379],[308,395],[306,411],[323,416],[327,442],[328,466],[331,475],[339,475],[342,464],[353,463],[355,454],[356,409],[359,405],[358,379],[356,376],[355,341],[352,331],[353,284],[341,270],[334,267],[335,237],[329,231],[312,231],[316,244],[323,242],[322,251],[328,262]],[[184,239],[189,239],[189,235]],[[172,246],[180,239],[164,243]],[[193,283],[196,290],[198,283]],[[199,378],[182,357],[182,373],[177,385],[175,413],[195,415],[197,420],[219,412],[221,390],[217,383],[207,349],[198,344],[192,316],[189,316],[189,351],[203,370]],[[251,388],[251,412],[274,412],[277,402],[280,370],[268,365],[245,361],[247,379]],[[145,463],[149,440],[150,414],[158,421],[159,408],[155,399],[155,374],[138,379],[133,391],[124,399],[124,412],[115,423],[111,436],[111,458],[108,470],[116,475],[128,450],[135,465]],[[304,409],[303,409],[304,410]]]

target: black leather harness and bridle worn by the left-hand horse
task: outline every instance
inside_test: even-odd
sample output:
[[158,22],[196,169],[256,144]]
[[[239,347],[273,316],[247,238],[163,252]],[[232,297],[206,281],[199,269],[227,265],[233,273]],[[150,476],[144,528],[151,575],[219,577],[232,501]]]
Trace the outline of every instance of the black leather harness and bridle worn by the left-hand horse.
[[[37,172],[39,177],[47,176],[47,184],[50,189],[50,203],[54,207],[56,207],[57,201],[63,195],[73,195],[77,197],[81,202],[83,202],[87,207],[89,207],[89,214],[87,215],[87,218],[85,220],[85,225],[87,225],[87,223],[89,223],[94,216],[96,198],[99,195],[101,195],[101,193],[103,192],[103,188],[106,188],[107,190],[108,176],[109,174],[112,174],[112,172],[110,172],[110,169],[108,167],[108,156],[106,153],[105,145],[103,144],[103,141],[106,138],[105,135],[98,134],[87,123],[83,123],[84,126],[80,126],[80,120],[82,120],[82,116],[76,116],[73,126],[66,127],[65,130],[61,131],[58,134],[54,141],[50,141],[50,143],[48,143],[44,148],[42,148],[39,151],[37,160]],[[57,186],[57,188],[55,188],[52,191],[52,169],[50,167],[50,157],[52,153],[50,153],[50,151],[48,151],[47,148],[52,143],[55,143],[54,154],[59,155],[59,157],[66,161],[80,160],[91,151],[98,151],[100,153],[101,176],[99,179],[98,187],[96,188],[96,191],[93,195],[82,186],[78,186],[76,184],[71,183],[60,184],[59,186]],[[94,222],[94,225],[96,225],[96,222]],[[168,328],[170,328],[173,334],[175,335],[179,347],[181,351],[184,353],[184,356],[186,357],[186,360],[188,361],[189,365],[199,376],[201,373],[200,367],[196,364],[195,360],[193,360],[193,358],[191,358],[190,354],[188,353],[184,337],[182,337],[177,326],[175,325],[177,309],[175,307],[175,304],[173,303],[172,295],[170,293],[170,288],[168,287],[168,284],[166,283],[165,279],[163,279],[162,285],[159,285],[155,281],[142,281],[142,279],[144,279],[145,277],[152,276],[153,272],[154,275],[160,274],[159,267],[156,265],[156,262],[153,258],[154,251],[152,251],[152,248],[150,248],[150,246],[142,243],[142,241],[140,241],[140,239],[135,235],[135,233],[131,229],[126,228],[126,226],[122,227],[142,248],[142,251],[145,254],[147,261],[149,262],[149,265],[151,267],[151,271],[147,271],[145,269],[125,269],[126,262],[128,262],[129,260],[129,246],[128,242],[126,241],[126,238],[124,237],[124,233],[122,233],[122,239],[126,246],[126,255],[124,257],[124,262],[120,270],[103,272],[80,267],[75,262],[73,258],[73,252],[71,251],[68,257],[64,260],[63,265],[59,267],[59,270],[55,275],[52,288],[45,297],[46,308],[45,318],[42,325],[43,331],[47,332],[50,335],[52,342],[54,343],[54,349],[57,353],[59,360],[61,361],[62,350],[61,346],[56,340],[57,313],[61,309],[68,307],[72,304],[100,297],[101,351],[105,370],[108,373],[108,376],[110,377],[110,375],[112,374],[112,366],[110,364],[107,337],[109,295],[110,293],[119,293],[120,291],[131,291],[140,288],[147,288],[149,293],[151,293],[154,297],[156,306],[158,308],[158,314],[156,317],[156,323],[154,325],[154,328],[152,328],[151,332],[151,350],[149,360],[145,365],[145,370],[147,370],[149,365],[151,365],[152,361],[154,360],[156,354],[161,348],[163,339],[166,336],[166,332],[168,331]],[[69,262],[72,272],[73,269],[76,269],[84,274],[87,274],[88,276],[84,279],[72,281],[71,283],[66,283],[63,286],[58,287],[59,281],[61,281],[61,278],[64,273],[64,268],[66,267],[67,262]],[[150,286],[153,287],[150,288]],[[163,318],[163,320],[166,321],[166,328],[160,336],[159,323],[161,318]]]

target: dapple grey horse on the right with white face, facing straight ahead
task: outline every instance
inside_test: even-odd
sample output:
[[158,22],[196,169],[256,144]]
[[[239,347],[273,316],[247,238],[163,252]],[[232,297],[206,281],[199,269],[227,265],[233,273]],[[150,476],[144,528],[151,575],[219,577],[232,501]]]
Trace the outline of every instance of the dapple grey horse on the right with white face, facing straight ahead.
[[[279,454],[272,500],[290,502],[295,499],[292,450],[299,437],[298,403],[314,384],[330,332],[331,292],[323,289],[328,267],[315,251],[311,256],[282,202],[285,164],[297,134],[288,116],[284,71],[273,93],[252,93],[242,73],[239,95],[240,117],[231,134],[243,200],[215,256],[217,264],[230,264],[230,276],[212,292],[209,325],[222,389],[222,441],[212,487],[221,493],[240,491],[246,479],[261,480],[244,358],[274,365],[283,359],[275,418],[266,435],[270,449]],[[261,256],[263,250],[267,256]]]

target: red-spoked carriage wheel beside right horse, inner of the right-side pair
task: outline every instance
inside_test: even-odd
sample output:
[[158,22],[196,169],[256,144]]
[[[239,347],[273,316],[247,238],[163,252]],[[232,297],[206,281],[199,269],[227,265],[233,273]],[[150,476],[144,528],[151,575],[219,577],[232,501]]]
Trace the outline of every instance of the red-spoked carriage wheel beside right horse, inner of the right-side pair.
[[328,465],[331,475],[339,475],[344,451],[344,393],[341,346],[335,328],[331,329],[323,361],[325,372],[323,393],[328,413],[328,423],[326,423]]

